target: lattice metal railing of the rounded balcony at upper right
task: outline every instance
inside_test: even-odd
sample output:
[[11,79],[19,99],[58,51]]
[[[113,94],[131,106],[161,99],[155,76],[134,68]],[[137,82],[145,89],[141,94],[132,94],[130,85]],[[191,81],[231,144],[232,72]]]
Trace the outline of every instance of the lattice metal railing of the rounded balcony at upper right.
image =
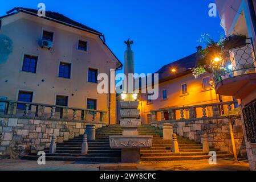
[[242,47],[226,50],[225,55],[224,65],[213,73],[215,84],[226,78],[256,72],[255,51],[251,38],[246,39],[246,44]]

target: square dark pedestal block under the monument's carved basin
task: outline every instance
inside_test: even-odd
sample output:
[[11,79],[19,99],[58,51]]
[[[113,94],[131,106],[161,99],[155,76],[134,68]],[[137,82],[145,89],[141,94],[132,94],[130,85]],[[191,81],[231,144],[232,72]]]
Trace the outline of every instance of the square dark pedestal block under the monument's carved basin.
[[140,148],[122,148],[122,163],[140,163]]

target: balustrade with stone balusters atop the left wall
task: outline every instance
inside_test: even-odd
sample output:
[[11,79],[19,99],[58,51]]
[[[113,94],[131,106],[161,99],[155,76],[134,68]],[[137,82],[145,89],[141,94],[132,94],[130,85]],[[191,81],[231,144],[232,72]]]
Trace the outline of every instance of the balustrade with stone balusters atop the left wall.
[[[72,120],[105,122],[107,111],[77,107],[39,104],[13,100],[0,100],[0,117],[36,118],[47,120]],[[24,109],[18,109],[23,107]],[[56,111],[58,109],[58,111]]]

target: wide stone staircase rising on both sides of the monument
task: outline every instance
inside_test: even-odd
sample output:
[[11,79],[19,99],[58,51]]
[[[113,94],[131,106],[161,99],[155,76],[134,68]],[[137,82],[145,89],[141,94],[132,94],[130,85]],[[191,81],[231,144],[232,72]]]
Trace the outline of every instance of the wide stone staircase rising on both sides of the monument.
[[[173,160],[198,160],[209,159],[208,154],[202,152],[202,144],[184,137],[177,137],[180,153],[172,153],[171,140],[162,139],[162,131],[150,125],[139,127],[140,135],[153,135],[153,146],[141,150],[141,161],[173,161]],[[63,143],[57,143],[56,153],[48,154],[46,148],[46,160],[84,161],[90,163],[119,163],[121,161],[121,150],[109,147],[109,135],[121,135],[122,129],[119,125],[105,126],[96,130],[96,140],[88,142],[88,155],[81,154],[83,136],[75,137]],[[213,148],[211,148],[214,150]],[[226,158],[230,155],[226,152],[214,150],[217,158]],[[36,153],[23,156],[23,159],[37,160]]]

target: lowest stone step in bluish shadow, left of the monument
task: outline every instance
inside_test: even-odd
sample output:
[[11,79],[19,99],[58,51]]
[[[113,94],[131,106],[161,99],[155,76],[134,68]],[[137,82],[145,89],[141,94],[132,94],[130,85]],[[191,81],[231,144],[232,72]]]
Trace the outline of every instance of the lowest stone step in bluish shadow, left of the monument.
[[[23,159],[37,160],[38,156],[25,155]],[[117,157],[104,157],[104,156],[94,156],[94,157],[77,157],[77,156],[46,156],[46,160],[56,160],[56,161],[84,161],[84,162],[100,162],[100,163],[118,163],[121,158]]]

